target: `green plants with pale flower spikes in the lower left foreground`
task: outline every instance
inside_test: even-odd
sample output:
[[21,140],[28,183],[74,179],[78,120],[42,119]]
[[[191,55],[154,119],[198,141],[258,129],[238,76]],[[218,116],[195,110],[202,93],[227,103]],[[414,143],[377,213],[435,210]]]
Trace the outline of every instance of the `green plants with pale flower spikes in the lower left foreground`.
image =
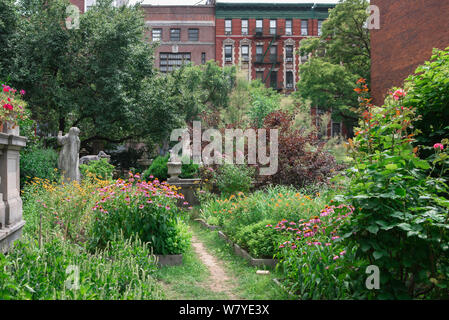
[[[79,288],[70,289],[69,267],[79,271]],[[150,248],[119,236],[102,252],[53,239],[39,248],[26,236],[7,256],[0,253],[0,299],[160,299]],[[74,271],[76,272],[76,271]],[[3,281],[5,280],[5,281]]]

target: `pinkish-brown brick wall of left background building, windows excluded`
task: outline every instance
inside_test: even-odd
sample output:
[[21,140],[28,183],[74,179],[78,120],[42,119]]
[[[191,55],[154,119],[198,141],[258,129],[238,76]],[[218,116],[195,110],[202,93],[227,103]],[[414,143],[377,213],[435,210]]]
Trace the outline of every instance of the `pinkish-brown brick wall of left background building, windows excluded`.
[[[155,63],[159,66],[159,53],[172,52],[170,29],[181,29],[181,41],[176,42],[178,52],[190,52],[191,61],[201,64],[201,54],[206,53],[206,61],[215,59],[215,10],[213,6],[142,6],[145,22],[162,29],[162,42],[155,52]],[[157,22],[162,22],[158,24]],[[207,23],[207,24],[204,24]],[[223,26],[224,27],[224,26]],[[199,41],[188,41],[188,29],[199,29]],[[151,39],[151,37],[150,37]]]

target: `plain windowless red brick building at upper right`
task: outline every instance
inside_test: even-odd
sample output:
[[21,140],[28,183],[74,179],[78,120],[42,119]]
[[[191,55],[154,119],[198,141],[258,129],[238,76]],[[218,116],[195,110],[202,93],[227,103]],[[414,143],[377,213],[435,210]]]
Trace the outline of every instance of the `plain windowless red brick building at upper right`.
[[371,89],[382,104],[389,88],[402,86],[432,49],[449,47],[449,1],[371,0],[380,29],[371,30]]

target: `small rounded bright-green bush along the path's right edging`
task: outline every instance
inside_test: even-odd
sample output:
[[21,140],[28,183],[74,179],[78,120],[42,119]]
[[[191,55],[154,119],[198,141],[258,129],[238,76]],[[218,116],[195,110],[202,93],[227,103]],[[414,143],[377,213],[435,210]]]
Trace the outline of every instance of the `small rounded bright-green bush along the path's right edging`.
[[267,228],[272,220],[263,220],[240,229],[233,240],[254,258],[273,258],[280,243],[280,235],[276,230]]

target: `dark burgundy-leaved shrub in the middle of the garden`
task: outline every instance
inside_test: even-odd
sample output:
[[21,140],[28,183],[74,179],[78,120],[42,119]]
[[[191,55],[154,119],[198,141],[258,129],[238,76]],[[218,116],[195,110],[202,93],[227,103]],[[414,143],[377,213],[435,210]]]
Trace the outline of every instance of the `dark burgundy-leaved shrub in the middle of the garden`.
[[324,144],[310,133],[304,135],[291,129],[293,116],[285,111],[268,115],[264,128],[278,129],[278,170],[263,178],[264,183],[303,187],[309,184],[326,184],[340,166],[324,149]]

